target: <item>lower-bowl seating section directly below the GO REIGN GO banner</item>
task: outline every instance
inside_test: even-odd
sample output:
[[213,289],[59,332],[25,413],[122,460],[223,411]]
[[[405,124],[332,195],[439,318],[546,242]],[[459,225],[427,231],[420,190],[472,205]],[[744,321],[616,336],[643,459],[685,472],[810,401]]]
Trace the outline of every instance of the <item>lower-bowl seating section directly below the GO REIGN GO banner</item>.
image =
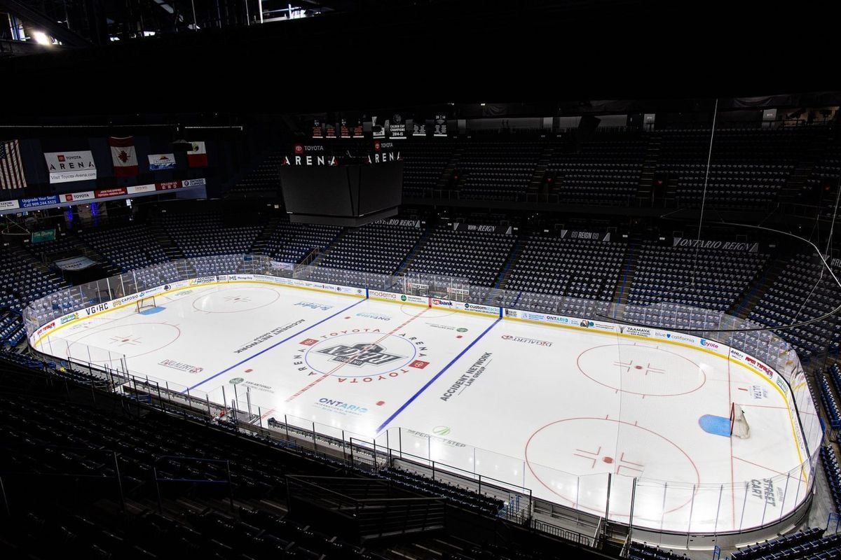
[[532,236],[503,287],[611,301],[626,248],[626,243]]

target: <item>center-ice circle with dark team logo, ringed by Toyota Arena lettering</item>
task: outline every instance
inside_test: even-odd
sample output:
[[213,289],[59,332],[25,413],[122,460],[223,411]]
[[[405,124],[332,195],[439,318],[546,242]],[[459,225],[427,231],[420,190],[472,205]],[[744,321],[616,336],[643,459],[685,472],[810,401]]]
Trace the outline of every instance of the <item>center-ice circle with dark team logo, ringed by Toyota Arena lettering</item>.
[[407,367],[423,369],[428,364],[419,359],[426,355],[424,343],[373,330],[299,341],[303,355],[296,355],[296,362],[310,373],[364,379],[388,376]]

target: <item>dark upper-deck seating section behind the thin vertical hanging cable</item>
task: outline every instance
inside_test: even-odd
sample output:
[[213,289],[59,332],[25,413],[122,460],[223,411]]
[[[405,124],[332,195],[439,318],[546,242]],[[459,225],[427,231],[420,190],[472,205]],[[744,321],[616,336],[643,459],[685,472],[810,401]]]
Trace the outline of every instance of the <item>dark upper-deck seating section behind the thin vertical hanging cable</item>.
[[[706,203],[720,207],[770,207],[822,127],[717,128]],[[658,173],[677,181],[681,207],[701,205],[710,148],[707,128],[661,132]]]

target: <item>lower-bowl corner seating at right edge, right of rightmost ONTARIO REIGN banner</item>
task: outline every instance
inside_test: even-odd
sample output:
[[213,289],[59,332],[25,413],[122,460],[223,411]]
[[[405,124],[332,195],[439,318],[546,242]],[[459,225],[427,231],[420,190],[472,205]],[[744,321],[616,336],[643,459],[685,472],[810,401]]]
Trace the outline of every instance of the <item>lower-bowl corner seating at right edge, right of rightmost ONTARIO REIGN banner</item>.
[[[795,318],[796,322],[810,321],[832,311],[841,305],[841,289],[828,275],[822,276],[822,270],[822,263],[816,259],[796,255],[785,264],[785,269],[751,310],[748,319],[780,327],[790,325]],[[834,316],[807,327],[777,333],[796,348],[801,360],[808,360],[827,348],[837,353],[841,342],[841,326]]]

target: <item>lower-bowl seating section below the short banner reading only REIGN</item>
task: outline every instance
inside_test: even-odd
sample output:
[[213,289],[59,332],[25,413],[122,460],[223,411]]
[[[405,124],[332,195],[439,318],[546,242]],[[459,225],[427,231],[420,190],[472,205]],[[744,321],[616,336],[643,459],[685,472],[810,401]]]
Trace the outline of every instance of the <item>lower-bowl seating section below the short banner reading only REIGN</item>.
[[442,224],[411,260],[407,273],[447,275],[492,286],[516,238],[503,233],[453,231]]

